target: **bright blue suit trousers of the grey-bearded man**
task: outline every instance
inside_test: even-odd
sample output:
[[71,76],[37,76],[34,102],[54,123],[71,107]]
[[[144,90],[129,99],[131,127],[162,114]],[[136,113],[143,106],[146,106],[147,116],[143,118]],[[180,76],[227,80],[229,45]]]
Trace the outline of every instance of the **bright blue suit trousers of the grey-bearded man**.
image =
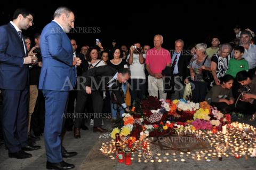
[[61,131],[68,91],[43,90],[45,97],[45,150],[47,161],[59,163],[61,155]]

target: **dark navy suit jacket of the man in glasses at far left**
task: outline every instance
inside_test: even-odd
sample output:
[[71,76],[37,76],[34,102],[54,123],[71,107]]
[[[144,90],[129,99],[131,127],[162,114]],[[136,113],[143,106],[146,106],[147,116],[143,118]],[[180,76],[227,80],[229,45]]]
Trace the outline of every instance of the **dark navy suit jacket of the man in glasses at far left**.
[[[27,48],[26,48],[27,53]],[[11,23],[0,27],[0,88],[23,90],[28,87],[29,66],[22,39]]]

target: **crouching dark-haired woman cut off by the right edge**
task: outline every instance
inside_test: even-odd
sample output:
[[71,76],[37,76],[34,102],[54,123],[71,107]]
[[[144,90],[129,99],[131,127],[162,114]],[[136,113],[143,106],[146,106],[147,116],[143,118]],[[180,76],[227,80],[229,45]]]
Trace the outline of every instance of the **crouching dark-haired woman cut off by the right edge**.
[[250,120],[256,118],[256,76],[252,76],[247,71],[240,71],[236,75],[236,80],[244,88],[242,98],[237,102],[237,109],[245,114],[251,114]]

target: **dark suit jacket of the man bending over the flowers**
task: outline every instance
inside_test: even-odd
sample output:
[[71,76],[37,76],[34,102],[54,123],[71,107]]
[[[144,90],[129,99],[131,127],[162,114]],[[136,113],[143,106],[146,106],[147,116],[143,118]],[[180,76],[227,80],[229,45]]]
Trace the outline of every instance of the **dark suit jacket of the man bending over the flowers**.
[[121,83],[117,80],[114,81],[114,85],[108,87],[110,80],[115,76],[117,70],[111,66],[99,66],[83,73],[85,78],[84,86],[91,87],[92,90],[111,90],[115,93],[119,104],[125,103],[124,98],[121,95],[120,87]]

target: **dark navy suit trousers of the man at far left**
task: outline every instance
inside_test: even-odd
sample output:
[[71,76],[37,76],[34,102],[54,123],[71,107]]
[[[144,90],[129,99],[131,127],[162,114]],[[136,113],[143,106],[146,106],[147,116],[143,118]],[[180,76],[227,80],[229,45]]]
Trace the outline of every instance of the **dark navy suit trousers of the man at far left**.
[[1,90],[3,95],[2,127],[10,153],[18,152],[28,143],[29,89]]

